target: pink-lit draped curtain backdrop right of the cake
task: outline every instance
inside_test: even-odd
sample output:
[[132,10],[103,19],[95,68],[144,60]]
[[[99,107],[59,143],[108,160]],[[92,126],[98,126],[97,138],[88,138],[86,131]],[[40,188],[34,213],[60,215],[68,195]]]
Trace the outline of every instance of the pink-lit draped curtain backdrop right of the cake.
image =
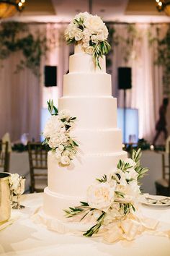
[[[165,33],[166,26],[161,26],[161,35]],[[126,25],[114,25],[116,33],[127,39]],[[127,90],[126,106],[138,108],[139,114],[139,137],[152,142],[155,135],[155,124],[158,120],[158,108],[163,99],[162,68],[154,64],[156,57],[156,43],[152,46],[148,41],[148,30],[156,35],[156,26],[148,24],[136,25],[140,40],[135,39],[130,52],[128,63],[124,61],[125,45],[123,41],[115,46],[112,59],[112,93],[117,97],[117,105],[123,107],[123,91],[118,90],[117,68],[132,67],[132,89]],[[161,36],[160,35],[160,36]],[[169,113],[169,111],[168,111]],[[169,117],[167,116],[167,120]],[[127,120],[130,121],[130,120]],[[160,139],[160,142],[162,140]]]

